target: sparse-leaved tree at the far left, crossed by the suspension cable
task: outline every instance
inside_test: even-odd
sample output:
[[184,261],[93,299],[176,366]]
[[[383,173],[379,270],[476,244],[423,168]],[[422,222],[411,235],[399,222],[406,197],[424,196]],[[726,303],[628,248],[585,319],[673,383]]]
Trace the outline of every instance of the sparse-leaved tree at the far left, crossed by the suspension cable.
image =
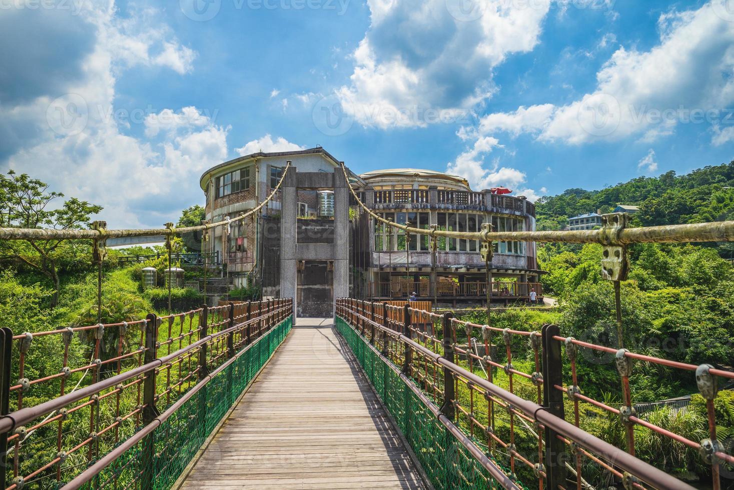
[[[16,174],[13,170],[0,175],[0,224],[3,227],[51,228],[54,230],[82,230],[89,227],[90,216],[102,211],[72,197],[60,208],[52,203],[64,194],[48,191],[48,184]],[[84,246],[87,246],[86,244]],[[79,253],[79,243],[63,240],[4,241],[0,249],[21,266],[28,266],[51,280],[54,294],[51,307],[59,301],[59,262],[69,255]]]

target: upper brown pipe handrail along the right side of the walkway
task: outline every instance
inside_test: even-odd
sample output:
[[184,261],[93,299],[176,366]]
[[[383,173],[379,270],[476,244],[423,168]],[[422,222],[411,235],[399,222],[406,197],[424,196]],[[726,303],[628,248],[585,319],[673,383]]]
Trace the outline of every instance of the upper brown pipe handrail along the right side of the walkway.
[[[344,304],[344,299],[339,299],[337,305],[340,313],[347,311],[346,308],[348,307],[346,307],[346,305]],[[581,430],[581,428],[578,428],[575,425],[568,423],[560,417],[556,417],[555,415],[551,414],[551,412],[548,412],[548,409],[546,409],[545,407],[540,406],[537,403],[525,400],[524,398],[520,398],[514,393],[504,390],[503,388],[498,387],[496,384],[490,383],[490,381],[482,379],[476,374],[465,370],[463,367],[460,367],[459,365],[448,361],[448,359],[446,359],[443,355],[431,351],[429,348],[421,345],[421,343],[415,342],[415,340],[407,337],[401,332],[389,329],[388,327],[378,323],[377,321],[373,321],[371,320],[371,318],[368,318],[359,312],[355,312],[354,310],[348,310],[348,312],[349,315],[353,315],[354,317],[359,318],[360,321],[368,324],[376,330],[379,330],[379,332],[388,334],[390,337],[393,337],[393,339],[399,340],[401,343],[404,343],[404,345],[410,346],[411,351],[417,351],[426,358],[431,359],[437,365],[445,367],[452,373],[453,376],[459,376],[462,379],[467,380],[473,386],[479,387],[484,390],[487,395],[493,395],[494,397],[499,398],[501,401],[504,401],[509,405],[511,410],[515,411],[515,409],[520,409],[520,412],[522,412],[522,414],[524,414],[526,417],[533,420],[534,422],[542,424],[547,428],[551,428],[558,434],[567,437],[571,441],[576,442],[578,445],[581,445],[582,447],[585,447],[586,449],[592,451],[592,453],[603,456],[608,461],[612,461],[614,466],[624,469],[631,475],[635,475],[637,478],[640,478],[641,480],[652,484],[656,488],[693,489],[692,486],[689,486],[682,480],[678,480],[674,476],[669,475],[661,469],[655,468],[652,465],[647,464],[644,461],[635,458],[634,456],[631,456],[631,454],[620,450],[618,447],[615,447],[614,445],[611,445],[608,442],[603,441],[602,439],[592,436],[592,434]],[[344,321],[348,322],[347,318],[345,318],[346,315],[339,316]],[[352,326],[352,328],[354,328],[354,326]],[[450,403],[453,403],[453,401],[451,401]]]

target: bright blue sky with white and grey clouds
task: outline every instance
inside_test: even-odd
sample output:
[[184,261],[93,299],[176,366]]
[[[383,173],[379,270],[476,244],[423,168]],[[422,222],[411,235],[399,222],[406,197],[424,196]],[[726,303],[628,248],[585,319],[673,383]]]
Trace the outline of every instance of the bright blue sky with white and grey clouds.
[[734,0],[7,0],[0,167],[160,226],[322,145],[531,199],[733,158]]

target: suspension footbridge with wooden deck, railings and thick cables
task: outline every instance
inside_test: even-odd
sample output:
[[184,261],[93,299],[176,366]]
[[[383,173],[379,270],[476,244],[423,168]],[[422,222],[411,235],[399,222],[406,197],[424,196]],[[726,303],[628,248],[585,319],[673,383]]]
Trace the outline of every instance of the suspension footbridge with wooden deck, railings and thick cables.
[[[258,213],[289,167],[265,201],[224,222],[3,228],[0,239],[90,240],[101,271],[107,239],[163,236],[170,260],[173,236],[200,232],[206,241],[210,230],[227,233]],[[295,318],[297,299],[270,298],[32,333],[5,327],[5,489],[693,488],[636,456],[641,427],[696,450],[711,487],[722,488],[734,457],[717,439],[713,401],[734,372],[625,349],[619,283],[629,244],[734,241],[734,222],[632,228],[624,214],[611,214],[600,230],[494,232],[485,224],[481,232],[454,232],[383,219],[349,189],[352,205],[370,219],[430,241],[479,241],[487,261],[496,240],[601,244],[600,268],[614,283],[617,345],[567,337],[555,325],[501,329],[491,314],[479,325],[366,298],[335,299],[333,318],[320,321]],[[513,365],[520,350],[529,350],[529,369]],[[621,405],[584,395],[577,362],[587,351],[613,360]],[[708,412],[704,439],[636,413],[631,376],[643,365],[695,380]],[[585,430],[580,414],[590,407],[621,428],[621,443]]]

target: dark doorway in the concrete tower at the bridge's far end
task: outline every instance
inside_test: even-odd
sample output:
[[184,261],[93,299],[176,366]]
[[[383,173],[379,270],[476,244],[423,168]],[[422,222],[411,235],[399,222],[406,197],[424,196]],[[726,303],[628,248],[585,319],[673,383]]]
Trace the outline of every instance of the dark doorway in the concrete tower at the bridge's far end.
[[298,263],[296,314],[305,318],[334,315],[334,267],[328,260]]

